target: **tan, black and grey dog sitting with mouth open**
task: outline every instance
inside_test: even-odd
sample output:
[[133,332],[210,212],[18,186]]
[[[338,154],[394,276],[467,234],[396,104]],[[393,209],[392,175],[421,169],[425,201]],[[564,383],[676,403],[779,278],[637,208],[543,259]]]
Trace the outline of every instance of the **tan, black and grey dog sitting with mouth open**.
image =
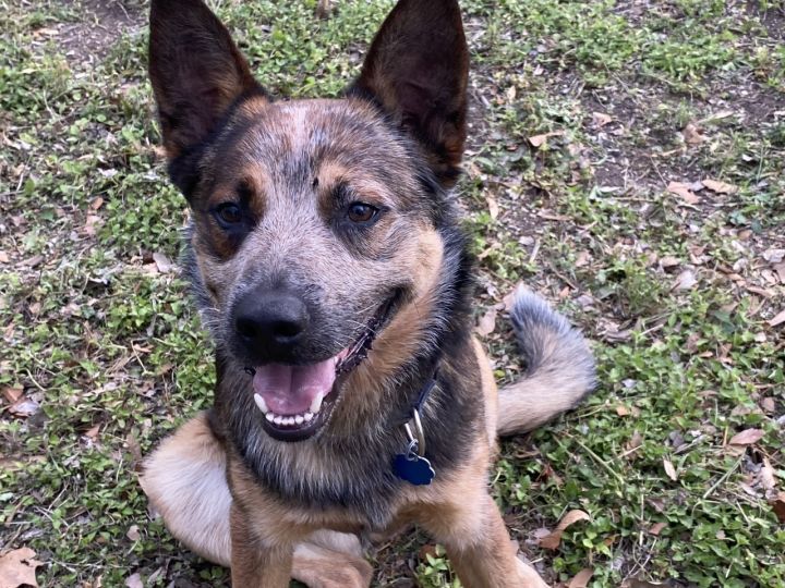
[[149,75],[214,406],[147,457],[171,534],[238,587],[366,587],[366,540],[418,524],[463,586],[541,587],[488,493],[498,436],[594,387],[582,336],[510,310],[528,373],[472,335],[452,188],[469,52],[456,0],[400,0],[338,98],[276,100],[202,0],[153,0]]

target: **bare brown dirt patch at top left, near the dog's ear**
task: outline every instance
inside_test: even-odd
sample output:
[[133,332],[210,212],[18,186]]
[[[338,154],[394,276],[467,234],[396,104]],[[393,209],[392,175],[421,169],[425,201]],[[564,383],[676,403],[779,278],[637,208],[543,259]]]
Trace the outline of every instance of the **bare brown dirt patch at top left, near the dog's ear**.
[[77,21],[57,27],[57,41],[72,63],[93,66],[123,35],[138,32],[145,11],[134,0],[76,0],[69,2]]

